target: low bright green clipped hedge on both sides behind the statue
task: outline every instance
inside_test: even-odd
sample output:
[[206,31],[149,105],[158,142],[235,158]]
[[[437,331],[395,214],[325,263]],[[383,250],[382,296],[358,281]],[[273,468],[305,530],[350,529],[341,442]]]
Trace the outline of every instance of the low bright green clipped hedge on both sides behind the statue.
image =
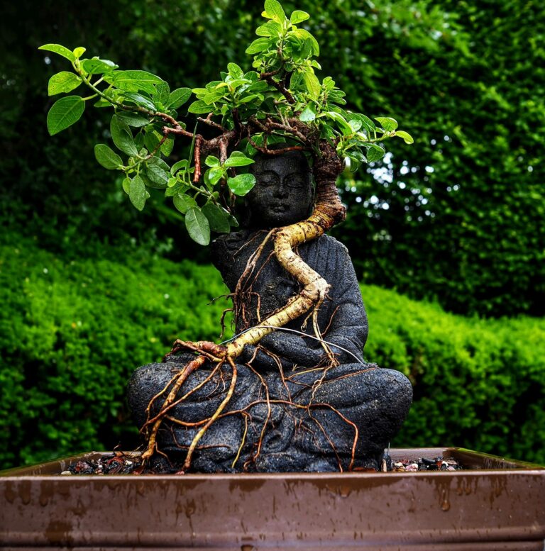
[[[216,339],[225,288],[212,267],[141,250],[65,260],[0,245],[0,467],[135,447],[123,394],[178,336]],[[16,243],[16,245],[13,245]],[[463,445],[545,463],[545,322],[480,321],[363,286],[365,354],[400,369],[415,402],[392,446]]]

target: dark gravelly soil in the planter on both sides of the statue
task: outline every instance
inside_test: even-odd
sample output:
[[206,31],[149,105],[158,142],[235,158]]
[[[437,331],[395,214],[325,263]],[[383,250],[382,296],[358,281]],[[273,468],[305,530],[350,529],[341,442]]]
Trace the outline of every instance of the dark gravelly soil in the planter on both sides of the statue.
[[[388,472],[419,472],[419,471],[458,471],[466,469],[458,461],[447,457],[419,457],[403,458],[400,461],[392,461],[389,456],[382,462],[382,471]],[[72,474],[184,474],[180,467],[170,464],[167,460],[151,462],[145,467],[138,455],[114,452],[103,455],[97,461],[78,461],[71,464],[63,475]]]

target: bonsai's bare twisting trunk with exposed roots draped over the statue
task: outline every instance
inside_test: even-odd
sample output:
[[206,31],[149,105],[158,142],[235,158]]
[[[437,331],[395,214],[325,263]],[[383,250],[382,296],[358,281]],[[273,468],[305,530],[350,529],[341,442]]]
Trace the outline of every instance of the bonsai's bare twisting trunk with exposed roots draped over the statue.
[[[267,79],[268,77],[266,75],[262,75],[262,78]],[[282,84],[281,86],[283,87],[284,84]],[[282,91],[282,93],[286,92],[285,89],[281,89],[280,91]],[[211,124],[210,116],[203,119],[202,122],[207,123],[209,126],[214,126],[214,124]],[[157,447],[157,435],[160,425],[163,423],[163,421],[166,420],[172,423],[172,425],[179,425],[188,429],[198,429],[197,433],[192,439],[192,442],[187,448],[187,455],[185,457],[185,462],[182,467],[183,471],[187,472],[187,470],[191,467],[194,451],[200,449],[197,448],[199,441],[202,440],[211,425],[219,418],[238,414],[243,416],[244,430],[241,444],[238,447],[236,457],[232,464],[234,468],[236,462],[238,462],[241,457],[243,447],[246,445],[248,425],[249,423],[251,423],[250,410],[253,406],[259,403],[265,403],[267,406],[267,415],[265,416],[265,420],[260,430],[258,441],[255,445],[255,452],[253,452],[251,460],[246,461],[244,465],[244,468],[247,469],[250,462],[255,462],[260,455],[261,449],[263,447],[265,433],[270,423],[272,411],[271,406],[272,404],[277,403],[285,406],[286,410],[289,410],[290,408],[296,408],[307,411],[307,413],[309,414],[309,418],[311,418],[312,421],[316,423],[319,430],[324,433],[326,440],[328,440],[329,444],[331,445],[331,449],[337,457],[340,470],[342,470],[342,464],[340,458],[338,457],[338,452],[336,450],[336,447],[334,446],[333,440],[331,440],[330,435],[326,433],[324,426],[321,425],[321,423],[314,416],[312,416],[312,410],[314,410],[315,408],[329,408],[331,411],[334,411],[334,413],[336,413],[336,415],[338,415],[344,422],[348,423],[348,425],[351,425],[354,429],[354,440],[351,462],[348,465],[348,469],[352,469],[356,454],[356,444],[358,442],[357,426],[352,421],[348,420],[346,416],[343,416],[343,414],[336,408],[334,408],[334,406],[331,406],[331,404],[316,403],[314,401],[316,391],[317,389],[319,389],[321,384],[324,383],[327,372],[332,367],[338,365],[338,360],[332,352],[331,347],[329,347],[329,345],[324,341],[323,334],[318,325],[319,308],[324,302],[324,299],[326,299],[330,286],[328,282],[326,282],[325,279],[321,277],[320,274],[318,274],[314,269],[309,267],[309,265],[307,265],[302,260],[302,257],[300,257],[297,252],[298,245],[309,240],[319,238],[320,235],[323,235],[324,232],[334,226],[335,223],[343,220],[345,216],[344,207],[342,206],[341,201],[338,198],[338,193],[336,189],[336,177],[341,172],[342,164],[336,157],[334,146],[324,140],[317,141],[316,136],[311,135],[311,130],[309,130],[309,127],[304,123],[301,123],[301,121],[298,121],[297,119],[284,120],[282,121],[282,124],[276,123],[270,118],[268,118],[265,123],[261,123],[260,121],[251,122],[253,123],[253,126],[255,126],[255,128],[258,128],[259,131],[263,131],[265,134],[263,147],[257,147],[257,145],[253,144],[254,147],[263,152],[270,153],[270,155],[280,155],[282,152],[285,152],[287,150],[309,150],[312,148],[316,150],[317,144],[317,147],[319,148],[319,155],[315,155],[313,167],[314,177],[316,179],[316,204],[314,206],[314,211],[312,215],[309,216],[309,218],[307,218],[307,220],[305,221],[294,223],[291,226],[287,226],[285,228],[273,228],[272,230],[270,230],[248,260],[246,269],[243,272],[242,277],[239,279],[232,296],[233,313],[236,326],[238,328],[242,326],[245,329],[243,333],[239,334],[236,338],[231,340],[231,342],[226,346],[216,345],[214,343],[203,341],[199,341],[197,343],[189,343],[187,341],[177,340],[174,343],[174,345],[172,346],[172,350],[165,356],[165,361],[169,360],[174,355],[177,355],[179,352],[187,350],[197,353],[197,356],[194,357],[194,360],[191,360],[184,367],[182,367],[182,369],[180,369],[180,372],[177,372],[172,377],[167,386],[165,386],[165,388],[158,394],[156,394],[150,401],[147,409],[148,420],[141,429],[143,433],[145,433],[145,436],[147,438],[147,448],[145,452],[143,452],[142,457],[143,460],[148,460],[153,455],[153,453],[162,453],[160,452],[160,450],[158,450]],[[260,126],[264,126],[265,130],[263,130],[263,128],[260,128]],[[241,130],[243,128],[246,128],[246,130]],[[221,128],[221,130],[224,129]],[[285,133],[290,133],[290,135],[296,137],[302,143],[302,145],[287,146],[284,150],[269,150],[267,146],[268,135],[270,133],[274,133],[277,130],[282,130]],[[226,157],[228,148],[231,148],[234,143],[238,143],[238,141],[242,137],[243,131],[247,133],[246,137],[248,139],[251,139],[248,126],[240,126],[240,128],[237,127],[235,130],[226,131],[221,136],[212,140],[204,140],[202,136],[195,135],[194,182],[198,182],[200,178],[200,157],[202,157],[202,155],[205,155],[212,148],[216,148],[222,158]],[[257,235],[263,235],[263,233]],[[265,246],[271,240],[273,243],[273,251],[268,255],[265,261],[262,262],[262,265],[258,268],[258,262],[263,256]],[[253,240],[248,243],[251,243],[252,241]],[[248,245],[248,243],[243,246]],[[279,308],[277,311],[274,311],[272,313],[265,313],[265,318],[262,318],[260,312],[261,297],[259,296],[259,294],[253,291],[253,284],[259,277],[261,270],[263,270],[263,267],[266,265],[267,262],[270,261],[273,256],[275,257],[277,262],[279,262],[280,265],[285,269],[285,271],[290,274],[294,281],[299,284],[300,291],[298,294],[293,296],[285,306]],[[248,309],[251,308],[253,304],[257,305],[257,311],[250,313],[248,312]],[[221,317],[222,330],[224,329],[224,316],[227,311],[229,311],[229,309],[224,311]],[[323,373],[321,374],[321,377],[319,377],[319,379],[317,379],[316,382],[314,382],[314,384],[312,385],[312,395],[309,403],[306,404],[294,401],[290,394],[289,386],[287,385],[287,381],[297,383],[297,381],[293,380],[297,373],[294,373],[291,377],[285,377],[282,370],[282,362],[280,361],[280,359],[272,354],[270,351],[259,347],[260,340],[265,335],[272,333],[277,328],[284,327],[287,323],[290,323],[291,321],[301,316],[307,316],[308,319],[312,320],[312,329],[314,335],[304,336],[314,337],[319,340],[321,347],[324,349],[325,362],[324,366],[314,368],[321,369]],[[257,319],[258,323],[257,325],[250,327],[252,319]],[[326,333],[328,329],[329,325],[324,333]],[[250,369],[252,369],[253,372],[260,379],[260,382],[263,386],[265,398],[253,401],[251,404],[246,406],[246,408],[225,412],[224,410],[231,401],[231,398],[236,388],[237,367],[235,359],[236,357],[238,357],[238,355],[241,354],[244,347],[246,347],[247,345],[255,345],[254,357],[252,358],[251,362],[253,361],[253,359],[255,359],[255,354],[258,352],[258,350],[263,350],[268,355],[270,355],[273,360],[275,360],[278,370],[280,372],[282,384],[286,391],[286,399],[270,399],[269,389],[265,379],[261,376],[261,374],[258,373],[256,369],[251,367],[251,362],[249,362],[248,367],[250,367]],[[202,367],[207,361],[211,362],[214,366],[211,369],[210,374],[205,377],[202,382],[194,386],[191,390],[187,391],[185,395],[178,397],[180,389],[182,385],[187,381],[188,377],[190,377],[190,375],[194,371]],[[231,381],[229,382],[229,388],[226,389],[224,399],[221,401],[218,408],[216,408],[216,411],[211,416],[201,421],[191,423],[172,416],[172,408],[175,408],[175,406],[183,403],[188,399],[189,396],[197,392],[199,389],[202,389],[202,387],[205,384],[209,383],[211,379],[216,376],[216,374],[219,375],[221,382],[224,377],[222,367],[224,367],[226,364],[228,364],[231,368]],[[298,373],[311,372],[312,370],[313,369],[308,369],[304,371],[299,371]],[[169,388],[170,391],[168,391]],[[216,389],[212,392],[215,392]],[[163,398],[167,391],[167,397],[163,401],[163,404],[161,405],[158,413],[152,416],[152,406],[155,405],[155,403],[157,403],[159,399]],[[304,426],[304,428],[307,429],[308,427]],[[182,446],[180,446],[180,448],[182,448]]]

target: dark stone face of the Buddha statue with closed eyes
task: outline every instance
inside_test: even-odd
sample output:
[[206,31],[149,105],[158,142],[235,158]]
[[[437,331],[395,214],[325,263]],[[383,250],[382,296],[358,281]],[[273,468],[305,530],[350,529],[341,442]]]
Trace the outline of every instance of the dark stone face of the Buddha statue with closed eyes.
[[302,153],[259,155],[252,173],[255,187],[246,197],[251,226],[277,228],[307,218],[312,206],[312,184]]

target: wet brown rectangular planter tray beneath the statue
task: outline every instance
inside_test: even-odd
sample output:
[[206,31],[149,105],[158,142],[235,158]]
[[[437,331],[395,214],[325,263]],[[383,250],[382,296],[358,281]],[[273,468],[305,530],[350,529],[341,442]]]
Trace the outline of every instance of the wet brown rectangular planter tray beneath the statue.
[[544,550],[545,467],[457,447],[453,472],[59,476],[0,472],[3,549]]

